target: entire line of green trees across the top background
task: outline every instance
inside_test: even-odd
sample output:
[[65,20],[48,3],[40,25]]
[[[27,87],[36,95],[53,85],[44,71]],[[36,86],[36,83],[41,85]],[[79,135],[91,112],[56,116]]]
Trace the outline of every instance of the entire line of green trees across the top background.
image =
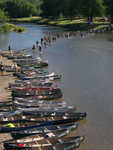
[[0,21],[7,17],[113,17],[113,0],[0,0]]

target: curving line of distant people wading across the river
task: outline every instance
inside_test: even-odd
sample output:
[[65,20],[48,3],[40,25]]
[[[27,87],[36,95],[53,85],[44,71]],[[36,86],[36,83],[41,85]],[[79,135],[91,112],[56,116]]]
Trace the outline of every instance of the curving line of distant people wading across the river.
[[80,37],[83,39],[95,35],[95,32],[90,29],[88,31],[44,32],[44,34],[46,36],[41,37],[40,40],[36,40],[32,46],[32,50],[35,51],[38,49],[40,55],[43,53],[43,49],[51,46],[59,38],[70,39],[71,37]]

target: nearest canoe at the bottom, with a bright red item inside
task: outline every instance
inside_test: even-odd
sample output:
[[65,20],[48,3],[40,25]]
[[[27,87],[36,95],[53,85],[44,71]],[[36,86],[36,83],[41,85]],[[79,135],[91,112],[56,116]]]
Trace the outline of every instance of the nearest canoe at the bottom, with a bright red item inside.
[[[25,142],[24,142],[25,140]],[[84,141],[83,136],[76,136],[76,137],[63,137],[63,138],[47,138],[44,139],[41,136],[31,136],[27,137],[25,139],[20,140],[10,140],[7,142],[4,142],[4,147],[7,149],[34,149],[36,148],[40,149],[53,149],[56,150],[65,150],[65,149],[72,149],[72,148],[78,148],[81,144],[81,142]],[[72,146],[73,145],[73,146]],[[66,147],[65,147],[66,146]]]

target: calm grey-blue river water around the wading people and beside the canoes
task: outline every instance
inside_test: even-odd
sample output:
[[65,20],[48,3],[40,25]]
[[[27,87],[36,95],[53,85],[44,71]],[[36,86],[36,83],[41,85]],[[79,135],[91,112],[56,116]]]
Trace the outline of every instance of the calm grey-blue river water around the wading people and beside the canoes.
[[[60,28],[24,24],[27,33],[0,35],[0,49],[30,48],[46,32]],[[64,100],[87,119],[74,135],[85,135],[80,150],[113,150],[113,42],[112,35],[60,38],[44,50],[49,70],[63,74]]]

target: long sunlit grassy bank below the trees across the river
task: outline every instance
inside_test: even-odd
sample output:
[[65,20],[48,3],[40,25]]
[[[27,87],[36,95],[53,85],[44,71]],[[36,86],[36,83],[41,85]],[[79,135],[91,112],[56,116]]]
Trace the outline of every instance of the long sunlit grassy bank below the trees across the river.
[[80,19],[80,18],[74,18],[72,20],[67,18],[53,20],[53,19],[42,18],[42,17],[27,17],[27,18],[11,19],[11,21],[20,22],[20,23],[27,22],[27,23],[36,23],[41,25],[42,24],[53,25],[53,26],[59,26],[71,30],[88,30],[88,29],[101,30],[108,26],[109,22],[101,22],[99,20],[100,18],[95,19],[93,24],[88,25],[86,19]]

